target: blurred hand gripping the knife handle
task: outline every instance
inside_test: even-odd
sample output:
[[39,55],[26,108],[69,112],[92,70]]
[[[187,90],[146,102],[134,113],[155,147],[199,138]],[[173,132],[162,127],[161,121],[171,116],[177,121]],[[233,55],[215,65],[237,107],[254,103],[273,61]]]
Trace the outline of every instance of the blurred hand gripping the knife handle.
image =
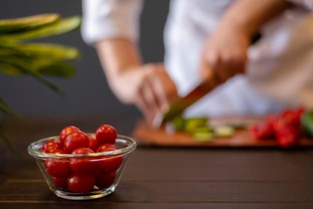
[[250,37],[235,27],[219,25],[207,38],[199,66],[204,85],[212,88],[244,72]]

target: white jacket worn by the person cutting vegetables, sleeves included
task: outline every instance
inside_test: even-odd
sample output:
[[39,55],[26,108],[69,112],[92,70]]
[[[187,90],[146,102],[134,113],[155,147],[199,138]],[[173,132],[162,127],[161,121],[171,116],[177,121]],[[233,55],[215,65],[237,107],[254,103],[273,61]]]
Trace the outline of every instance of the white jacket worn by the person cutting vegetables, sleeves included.
[[[171,0],[164,26],[164,65],[183,96],[199,83],[203,42],[235,0]],[[295,8],[266,23],[248,49],[246,72],[216,87],[185,116],[263,115],[302,105],[313,109],[313,0],[290,0]],[[139,40],[142,0],[82,0],[81,35]],[[257,7],[257,1],[255,1]]]

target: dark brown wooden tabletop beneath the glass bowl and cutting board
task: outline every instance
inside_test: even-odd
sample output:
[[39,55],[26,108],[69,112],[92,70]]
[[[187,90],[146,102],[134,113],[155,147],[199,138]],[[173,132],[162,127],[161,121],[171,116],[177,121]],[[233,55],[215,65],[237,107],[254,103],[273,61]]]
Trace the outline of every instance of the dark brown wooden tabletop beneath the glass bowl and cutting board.
[[[67,125],[86,132],[109,123],[131,135],[135,116],[29,118],[4,127],[26,154],[37,139]],[[3,124],[3,123],[2,123]],[[0,208],[313,208],[313,149],[138,145],[116,190],[93,200],[53,194],[34,160],[0,142]]]

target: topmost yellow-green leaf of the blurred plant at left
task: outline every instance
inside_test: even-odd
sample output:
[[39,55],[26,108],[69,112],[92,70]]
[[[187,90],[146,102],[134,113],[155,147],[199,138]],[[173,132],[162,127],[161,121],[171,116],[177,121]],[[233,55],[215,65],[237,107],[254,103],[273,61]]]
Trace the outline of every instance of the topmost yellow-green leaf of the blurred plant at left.
[[9,34],[9,35],[0,35],[2,39],[13,39],[13,40],[27,40],[27,39],[38,39],[49,36],[56,36],[70,32],[74,29],[77,29],[80,26],[81,18],[80,16],[73,16],[69,18],[64,18],[61,21],[39,27],[26,32]]

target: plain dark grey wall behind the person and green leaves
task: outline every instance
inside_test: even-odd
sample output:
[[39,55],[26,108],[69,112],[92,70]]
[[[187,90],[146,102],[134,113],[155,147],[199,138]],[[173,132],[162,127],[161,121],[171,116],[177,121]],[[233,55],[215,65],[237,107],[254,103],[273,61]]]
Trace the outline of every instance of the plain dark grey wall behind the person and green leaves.
[[[92,1],[92,0],[90,0]],[[145,1],[141,15],[140,47],[144,62],[163,60],[163,24],[168,12],[168,0]],[[63,17],[81,15],[79,0],[10,0],[1,1],[0,19],[17,18],[42,13],[59,13]],[[0,74],[0,97],[23,116],[94,115],[112,112],[139,112],[133,106],[121,104],[107,86],[95,50],[87,46],[80,31],[41,41],[75,46],[82,58],[74,62],[77,73],[72,79],[48,77],[62,89],[62,98],[32,77],[10,77]]]

